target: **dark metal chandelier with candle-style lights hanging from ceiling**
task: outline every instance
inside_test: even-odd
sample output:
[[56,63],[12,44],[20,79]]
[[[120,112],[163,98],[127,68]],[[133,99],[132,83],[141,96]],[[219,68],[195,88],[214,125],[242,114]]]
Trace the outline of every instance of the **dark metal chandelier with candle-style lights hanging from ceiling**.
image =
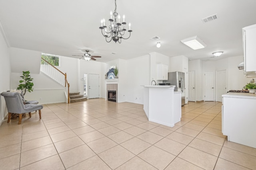
[[105,25],[105,19],[101,20],[101,27],[100,27],[101,33],[106,38],[106,41],[108,43],[111,40],[121,43],[122,39],[130,38],[132,30],[131,30],[131,23],[129,23],[128,32],[130,33],[130,35],[128,38],[123,37],[126,31],[125,29],[126,22],[124,21],[125,16],[123,16],[123,22],[120,23],[121,16],[118,15],[118,13],[116,12],[116,0],[115,0],[115,10],[114,10],[113,16],[114,16],[114,20],[112,19],[112,11],[110,11],[110,19],[108,20],[110,21],[110,25],[108,26],[108,30],[107,30],[107,26]]

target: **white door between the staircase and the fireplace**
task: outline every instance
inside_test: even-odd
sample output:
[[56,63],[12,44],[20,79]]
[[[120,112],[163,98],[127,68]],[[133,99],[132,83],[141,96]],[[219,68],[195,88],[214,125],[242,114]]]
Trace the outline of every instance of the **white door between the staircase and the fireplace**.
[[100,97],[99,74],[89,74],[89,99]]

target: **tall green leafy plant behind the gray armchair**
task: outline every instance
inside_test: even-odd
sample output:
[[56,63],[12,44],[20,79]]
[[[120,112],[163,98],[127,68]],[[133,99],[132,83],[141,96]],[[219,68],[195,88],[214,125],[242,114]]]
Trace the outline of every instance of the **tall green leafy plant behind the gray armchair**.
[[20,76],[23,80],[20,80],[20,83],[23,83],[23,84],[20,84],[17,89],[18,90],[23,90],[24,89],[24,94],[26,94],[26,91],[28,92],[31,92],[33,91],[33,86],[34,86],[34,83],[32,82],[33,78],[31,78],[30,76],[30,72],[29,71],[23,71],[23,76]]

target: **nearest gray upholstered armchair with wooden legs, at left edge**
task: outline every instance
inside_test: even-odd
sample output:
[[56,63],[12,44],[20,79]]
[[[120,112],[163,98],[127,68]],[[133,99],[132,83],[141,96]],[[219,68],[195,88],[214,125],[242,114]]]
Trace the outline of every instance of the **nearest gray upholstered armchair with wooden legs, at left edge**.
[[31,117],[32,111],[39,111],[39,117],[41,119],[41,109],[43,108],[42,105],[37,104],[23,104],[22,97],[18,92],[2,92],[2,96],[4,96],[6,106],[8,109],[8,123],[10,122],[11,114],[17,113],[19,114],[19,123],[21,123],[22,113],[29,113]]

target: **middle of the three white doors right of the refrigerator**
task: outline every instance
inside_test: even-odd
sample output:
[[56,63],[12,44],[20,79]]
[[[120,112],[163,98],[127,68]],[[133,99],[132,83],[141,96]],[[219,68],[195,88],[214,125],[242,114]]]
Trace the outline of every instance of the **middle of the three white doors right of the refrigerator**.
[[204,72],[204,101],[214,101],[214,71]]

